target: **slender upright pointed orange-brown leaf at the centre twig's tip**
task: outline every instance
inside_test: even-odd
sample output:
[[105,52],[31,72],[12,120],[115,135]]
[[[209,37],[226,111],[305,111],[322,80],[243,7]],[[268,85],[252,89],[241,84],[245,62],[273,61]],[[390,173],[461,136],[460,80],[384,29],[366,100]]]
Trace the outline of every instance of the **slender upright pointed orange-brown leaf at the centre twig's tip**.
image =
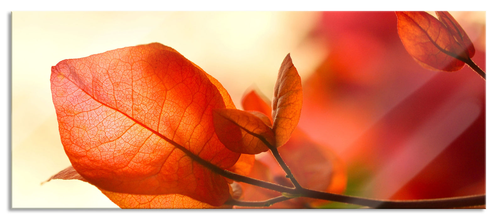
[[288,54],[281,63],[274,85],[272,117],[276,147],[286,143],[297,127],[302,110],[302,96],[302,82]]

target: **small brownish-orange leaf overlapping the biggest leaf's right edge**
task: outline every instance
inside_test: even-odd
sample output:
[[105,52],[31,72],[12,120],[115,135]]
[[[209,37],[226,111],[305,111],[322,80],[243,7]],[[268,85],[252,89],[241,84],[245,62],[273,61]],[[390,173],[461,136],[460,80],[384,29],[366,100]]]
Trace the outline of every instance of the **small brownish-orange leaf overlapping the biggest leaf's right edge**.
[[[259,116],[262,116],[259,115]],[[236,109],[213,110],[214,128],[221,142],[230,150],[258,154],[274,146],[274,133],[257,115]]]

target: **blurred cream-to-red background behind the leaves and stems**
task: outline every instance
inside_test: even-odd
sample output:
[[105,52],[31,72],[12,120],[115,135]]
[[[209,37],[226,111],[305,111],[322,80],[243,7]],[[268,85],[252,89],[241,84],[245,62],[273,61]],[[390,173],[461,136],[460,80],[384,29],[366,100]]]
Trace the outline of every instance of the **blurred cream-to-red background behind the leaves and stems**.
[[[485,70],[485,12],[451,12]],[[421,199],[485,193],[485,82],[421,68],[394,12],[12,12],[12,207],[113,208],[95,187],[53,180],[70,165],[50,67],[160,42],[218,79],[238,108],[272,97],[291,53],[304,85],[299,126],[347,165],[345,193]],[[331,205],[332,206],[332,205]]]

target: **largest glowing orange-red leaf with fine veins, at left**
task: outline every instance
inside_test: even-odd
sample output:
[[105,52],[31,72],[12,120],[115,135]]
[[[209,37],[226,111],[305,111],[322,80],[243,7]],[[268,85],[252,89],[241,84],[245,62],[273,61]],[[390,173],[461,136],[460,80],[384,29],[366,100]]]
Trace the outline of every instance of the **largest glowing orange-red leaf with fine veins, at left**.
[[175,50],[156,44],[64,60],[52,67],[51,83],[64,149],[89,183],[213,206],[230,197],[226,180],[195,161],[222,169],[237,162],[212,122],[212,109],[234,105]]

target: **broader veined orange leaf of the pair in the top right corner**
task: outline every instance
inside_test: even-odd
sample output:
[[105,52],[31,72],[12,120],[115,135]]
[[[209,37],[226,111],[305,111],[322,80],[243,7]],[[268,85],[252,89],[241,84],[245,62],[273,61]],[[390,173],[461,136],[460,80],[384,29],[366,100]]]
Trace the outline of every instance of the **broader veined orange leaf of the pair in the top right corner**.
[[[452,23],[455,21],[452,16],[441,13],[440,21],[424,11],[397,11],[396,14],[402,43],[422,66],[443,71],[457,71],[464,67],[465,63],[457,57],[468,59],[471,55],[467,48],[469,38],[457,22]],[[447,27],[449,23],[451,25]],[[460,33],[456,38],[455,32]],[[456,40],[459,37],[462,42]]]

